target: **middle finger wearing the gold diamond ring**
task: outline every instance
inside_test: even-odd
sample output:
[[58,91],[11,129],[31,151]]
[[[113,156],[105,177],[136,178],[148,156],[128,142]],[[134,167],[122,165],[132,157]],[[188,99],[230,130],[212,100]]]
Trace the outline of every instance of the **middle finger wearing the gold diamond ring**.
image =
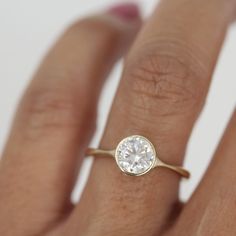
[[[221,0],[161,2],[126,59],[102,148],[140,134],[163,161],[181,165],[234,7]],[[178,183],[166,169],[130,177],[112,158],[95,158],[69,227],[81,234],[158,235],[174,218]],[[78,224],[82,215],[87,220]]]

